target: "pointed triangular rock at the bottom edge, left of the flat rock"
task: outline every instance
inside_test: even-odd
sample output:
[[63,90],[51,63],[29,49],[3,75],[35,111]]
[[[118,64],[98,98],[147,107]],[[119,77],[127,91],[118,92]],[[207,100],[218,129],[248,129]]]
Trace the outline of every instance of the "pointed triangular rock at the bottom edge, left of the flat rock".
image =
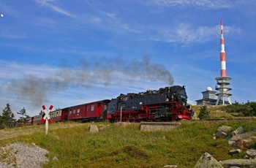
[[214,168],[222,168],[222,165],[214,159],[209,153],[203,153],[200,159],[195,164],[195,168],[206,168],[206,167],[214,167]]

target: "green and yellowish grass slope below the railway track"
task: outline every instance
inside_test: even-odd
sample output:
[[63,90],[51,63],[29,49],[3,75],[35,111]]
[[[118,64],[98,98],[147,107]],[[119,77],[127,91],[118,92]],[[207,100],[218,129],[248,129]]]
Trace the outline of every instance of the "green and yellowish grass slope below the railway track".
[[[215,159],[231,159],[231,148],[226,140],[213,140],[219,126],[243,126],[249,131],[255,121],[182,122],[171,131],[140,131],[138,124],[120,128],[110,123],[94,123],[98,127],[110,124],[97,134],[89,133],[89,124],[65,123],[65,129],[51,129],[48,135],[43,127],[33,134],[2,140],[1,146],[12,142],[35,143],[49,150],[50,162],[44,167],[194,167],[200,156],[208,152]],[[31,126],[26,126],[31,129]],[[26,128],[25,127],[25,128]],[[22,129],[26,130],[26,129]],[[244,153],[233,156],[242,158]],[[55,161],[53,157],[59,161]]]

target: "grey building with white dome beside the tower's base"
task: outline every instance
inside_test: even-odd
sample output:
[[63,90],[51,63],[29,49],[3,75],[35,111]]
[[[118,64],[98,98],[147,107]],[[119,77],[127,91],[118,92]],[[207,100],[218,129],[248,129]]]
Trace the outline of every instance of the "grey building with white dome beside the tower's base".
[[215,99],[215,94],[217,91],[212,91],[211,87],[207,87],[206,91],[202,91],[201,93],[203,94],[203,99],[195,100],[197,105],[214,106],[216,104],[217,99]]

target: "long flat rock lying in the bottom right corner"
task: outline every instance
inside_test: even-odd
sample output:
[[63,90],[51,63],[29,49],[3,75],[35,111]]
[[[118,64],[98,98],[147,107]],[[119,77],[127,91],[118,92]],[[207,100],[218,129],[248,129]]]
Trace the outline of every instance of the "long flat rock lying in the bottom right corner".
[[230,159],[226,161],[219,161],[222,167],[244,167],[244,168],[255,168],[256,159]]

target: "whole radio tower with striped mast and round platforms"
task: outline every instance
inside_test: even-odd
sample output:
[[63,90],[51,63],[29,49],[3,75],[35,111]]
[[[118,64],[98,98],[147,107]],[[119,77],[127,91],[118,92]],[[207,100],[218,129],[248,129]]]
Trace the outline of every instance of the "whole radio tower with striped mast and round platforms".
[[[215,80],[217,80],[217,85],[215,89],[219,91],[216,95],[218,96],[216,105],[219,105],[221,103],[222,105],[225,105],[225,98],[227,97],[227,101],[229,104],[231,103],[230,96],[232,94],[228,93],[228,91],[232,90],[232,88],[228,88],[227,85],[230,85],[228,83],[228,80],[232,80],[231,77],[227,77],[226,73],[226,53],[225,53],[225,46],[224,46],[224,38],[223,38],[223,26],[222,26],[222,20],[220,20],[220,26],[221,26],[221,38],[220,38],[220,77],[216,77]],[[221,100],[221,101],[220,101]]]

